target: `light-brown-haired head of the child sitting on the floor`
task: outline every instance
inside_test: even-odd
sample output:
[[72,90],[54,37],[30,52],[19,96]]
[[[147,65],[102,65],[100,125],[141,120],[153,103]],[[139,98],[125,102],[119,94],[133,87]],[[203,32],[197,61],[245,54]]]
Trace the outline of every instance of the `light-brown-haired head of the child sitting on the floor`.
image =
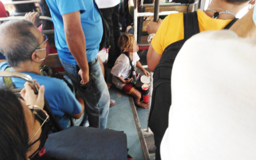
[[118,46],[125,52],[138,52],[139,46],[133,34],[123,34],[118,39]]

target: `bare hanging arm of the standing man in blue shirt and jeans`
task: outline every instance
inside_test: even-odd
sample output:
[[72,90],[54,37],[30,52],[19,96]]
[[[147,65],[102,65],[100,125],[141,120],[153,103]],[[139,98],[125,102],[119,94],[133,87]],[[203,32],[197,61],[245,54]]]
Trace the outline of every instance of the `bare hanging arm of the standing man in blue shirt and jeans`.
[[89,81],[85,34],[81,26],[80,11],[62,15],[68,49],[80,67],[81,84]]

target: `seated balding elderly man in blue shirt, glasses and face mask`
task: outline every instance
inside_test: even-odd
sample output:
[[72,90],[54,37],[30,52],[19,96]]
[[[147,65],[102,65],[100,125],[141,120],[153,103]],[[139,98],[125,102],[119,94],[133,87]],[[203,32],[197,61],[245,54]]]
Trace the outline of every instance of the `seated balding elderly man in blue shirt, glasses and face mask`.
[[[47,39],[41,32],[28,21],[9,21],[0,25],[0,37],[0,52],[7,59],[0,63],[0,70],[28,74],[44,85],[46,100],[64,129],[68,126],[70,116],[81,118],[84,111],[83,100],[77,100],[64,81],[41,75],[40,66],[48,55]],[[19,78],[11,80],[16,88],[23,88],[25,81]],[[6,84],[4,79],[0,79],[0,84]]]

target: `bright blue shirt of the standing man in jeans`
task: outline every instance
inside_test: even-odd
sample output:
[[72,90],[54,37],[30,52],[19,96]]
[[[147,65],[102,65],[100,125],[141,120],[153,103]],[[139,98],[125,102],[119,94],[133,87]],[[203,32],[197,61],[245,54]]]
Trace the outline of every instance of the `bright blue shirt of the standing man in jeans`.
[[54,22],[55,44],[60,59],[77,65],[65,40],[62,15],[80,11],[81,25],[86,40],[86,56],[88,62],[93,61],[97,57],[103,34],[101,15],[94,0],[46,0],[46,2]]

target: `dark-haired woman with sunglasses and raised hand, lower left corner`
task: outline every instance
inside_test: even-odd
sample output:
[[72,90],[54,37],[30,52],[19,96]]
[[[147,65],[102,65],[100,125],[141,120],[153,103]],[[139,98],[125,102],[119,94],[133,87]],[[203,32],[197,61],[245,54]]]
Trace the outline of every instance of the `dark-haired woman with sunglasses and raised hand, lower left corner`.
[[10,90],[0,89],[0,157],[1,159],[33,159],[45,139],[42,127],[49,116],[44,106],[44,86],[35,95],[30,84],[25,83],[17,98]]

